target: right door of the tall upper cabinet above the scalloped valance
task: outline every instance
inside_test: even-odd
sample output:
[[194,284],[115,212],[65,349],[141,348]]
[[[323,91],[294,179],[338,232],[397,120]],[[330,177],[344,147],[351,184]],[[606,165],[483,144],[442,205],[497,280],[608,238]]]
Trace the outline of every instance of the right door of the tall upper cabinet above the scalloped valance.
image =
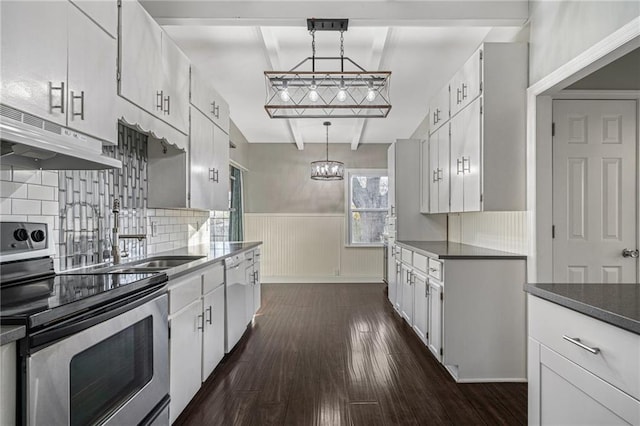
[[162,33],[162,120],[183,133],[189,123],[189,58]]

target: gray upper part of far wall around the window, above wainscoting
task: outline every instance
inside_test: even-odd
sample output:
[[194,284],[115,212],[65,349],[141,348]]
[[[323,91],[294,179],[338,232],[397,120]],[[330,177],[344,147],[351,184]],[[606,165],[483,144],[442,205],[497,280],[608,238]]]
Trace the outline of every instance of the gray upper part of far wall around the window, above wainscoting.
[[[329,158],[345,168],[387,168],[386,144],[330,144]],[[251,144],[245,175],[246,213],[344,213],[344,181],[311,180],[310,163],[325,158],[324,144]]]

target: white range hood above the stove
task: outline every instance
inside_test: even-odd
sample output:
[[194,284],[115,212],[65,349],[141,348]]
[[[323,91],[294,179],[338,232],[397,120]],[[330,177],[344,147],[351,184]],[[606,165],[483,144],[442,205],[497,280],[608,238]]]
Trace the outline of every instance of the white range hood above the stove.
[[0,105],[0,142],[2,165],[43,170],[122,167],[120,160],[102,153],[99,140],[6,105]]

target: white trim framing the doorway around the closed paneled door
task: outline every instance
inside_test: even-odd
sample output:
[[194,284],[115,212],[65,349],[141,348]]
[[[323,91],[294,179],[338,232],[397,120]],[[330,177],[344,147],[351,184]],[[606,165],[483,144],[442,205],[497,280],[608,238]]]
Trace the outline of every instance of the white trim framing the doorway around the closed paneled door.
[[[530,283],[553,281],[552,101],[567,99],[567,93],[562,91],[564,88],[639,47],[640,17],[633,19],[527,89],[526,191],[528,230],[531,236],[527,257],[527,281]],[[574,99],[577,99],[575,96],[580,93],[581,96],[591,96],[591,99],[595,96],[591,91],[575,92],[571,91]],[[616,95],[614,99],[638,99],[638,92],[635,91],[599,93],[609,98]],[[638,109],[640,108],[636,108]],[[640,112],[638,115],[640,120]],[[636,143],[640,140],[638,128],[640,122],[636,126]],[[640,149],[636,149],[636,152],[636,161],[640,166]],[[640,176],[637,172],[636,181],[640,188]],[[636,212],[639,211],[640,200],[636,209]],[[637,215],[638,213],[636,220]],[[637,228],[636,238],[640,242],[640,223]],[[636,273],[640,277],[640,266]]]

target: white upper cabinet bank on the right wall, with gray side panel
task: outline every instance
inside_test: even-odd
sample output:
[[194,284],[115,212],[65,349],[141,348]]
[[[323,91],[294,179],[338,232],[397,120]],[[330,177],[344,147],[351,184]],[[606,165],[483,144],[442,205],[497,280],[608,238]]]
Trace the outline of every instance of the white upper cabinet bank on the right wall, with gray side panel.
[[451,94],[450,137],[430,112],[431,213],[525,208],[527,54],[526,44],[484,43],[441,91]]

